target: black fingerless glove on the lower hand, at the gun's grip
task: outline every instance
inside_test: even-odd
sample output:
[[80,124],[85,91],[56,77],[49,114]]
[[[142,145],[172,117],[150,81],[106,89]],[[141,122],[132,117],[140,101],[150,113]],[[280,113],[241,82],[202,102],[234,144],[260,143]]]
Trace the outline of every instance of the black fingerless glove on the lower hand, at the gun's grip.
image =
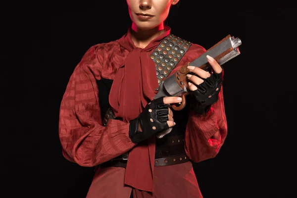
[[[140,143],[152,135],[168,129],[168,105],[164,104],[163,98],[154,99],[148,103],[141,114],[130,121],[129,137],[133,143]],[[139,131],[139,123],[142,132]]]

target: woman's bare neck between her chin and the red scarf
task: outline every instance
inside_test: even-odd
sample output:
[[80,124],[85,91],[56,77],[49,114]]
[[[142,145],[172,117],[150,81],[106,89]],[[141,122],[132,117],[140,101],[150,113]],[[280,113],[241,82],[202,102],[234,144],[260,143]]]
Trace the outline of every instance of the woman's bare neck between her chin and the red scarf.
[[148,44],[164,32],[164,24],[149,29],[139,29],[135,23],[132,23],[132,41],[137,48],[146,48]]

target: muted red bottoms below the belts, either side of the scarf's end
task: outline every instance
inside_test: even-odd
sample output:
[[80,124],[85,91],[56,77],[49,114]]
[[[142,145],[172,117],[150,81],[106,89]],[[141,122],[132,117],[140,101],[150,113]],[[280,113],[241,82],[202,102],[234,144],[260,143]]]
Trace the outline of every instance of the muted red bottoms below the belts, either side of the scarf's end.
[[99,168],[87,198],[202,198],[191,162],[154,167],[153,193],[124,185],[125,168]]

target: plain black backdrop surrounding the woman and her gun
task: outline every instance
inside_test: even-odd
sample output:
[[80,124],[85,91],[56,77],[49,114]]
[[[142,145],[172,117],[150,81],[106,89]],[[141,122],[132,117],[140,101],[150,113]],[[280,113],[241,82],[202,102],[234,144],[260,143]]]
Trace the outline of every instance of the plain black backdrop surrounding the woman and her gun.
[[[84,198],[93,169],[63,158],[59,105],[86,50],[126,33],[126,1],[10,2],[1,10],[2,192]],[[204,198],[296,195],[296,21],[284,1],[181,0],[171,10],[174,35],[205,49],[228,34],[243,43],[224,66],[225,144],[194,165]]]

